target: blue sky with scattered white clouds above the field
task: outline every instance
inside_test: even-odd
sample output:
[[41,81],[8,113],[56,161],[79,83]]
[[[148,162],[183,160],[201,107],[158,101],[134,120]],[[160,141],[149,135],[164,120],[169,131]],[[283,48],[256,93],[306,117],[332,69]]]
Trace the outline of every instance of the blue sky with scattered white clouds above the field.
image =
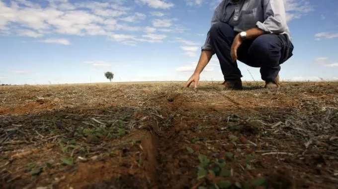
[[[284,80],[338,80],[337,0],[284,0]],[[219,0],[0,0],[0,82],[186,81]],[[259,69],[239,62],[243,80]],[[248,71],[249,70],[249,71]],[[216,56],[201,80],[223,78]]]

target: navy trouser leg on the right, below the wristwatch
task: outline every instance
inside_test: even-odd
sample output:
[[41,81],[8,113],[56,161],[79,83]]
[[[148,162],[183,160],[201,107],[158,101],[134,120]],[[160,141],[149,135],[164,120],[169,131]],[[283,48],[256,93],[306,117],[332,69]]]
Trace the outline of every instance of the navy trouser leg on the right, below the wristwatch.
[[261,79],[273,82],[280,71],[280,64],[292,56],[293,45],[284,35],[264,34],[252,42],[248,57],[259,65]]

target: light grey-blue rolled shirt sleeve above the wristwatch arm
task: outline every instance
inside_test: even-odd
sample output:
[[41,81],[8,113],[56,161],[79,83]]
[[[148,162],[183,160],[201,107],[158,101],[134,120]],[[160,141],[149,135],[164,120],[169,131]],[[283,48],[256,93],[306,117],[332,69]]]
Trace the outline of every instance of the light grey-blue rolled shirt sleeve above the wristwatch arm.
[[286,12],[284,0],[262,0],[264,22],[257,21],[256,26],[271,34],[279,34],[286,30]]

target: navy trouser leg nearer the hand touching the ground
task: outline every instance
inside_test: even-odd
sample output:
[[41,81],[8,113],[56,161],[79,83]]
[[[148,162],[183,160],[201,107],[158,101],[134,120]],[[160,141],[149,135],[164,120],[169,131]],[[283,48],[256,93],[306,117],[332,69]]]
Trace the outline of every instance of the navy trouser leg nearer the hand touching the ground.
[[220,62],[224,80],[241,79],[242,74],[237,62],[231,58],[231,46],[235,38],[232,27],[226,23],[216,23],[210,28],[210,42]]

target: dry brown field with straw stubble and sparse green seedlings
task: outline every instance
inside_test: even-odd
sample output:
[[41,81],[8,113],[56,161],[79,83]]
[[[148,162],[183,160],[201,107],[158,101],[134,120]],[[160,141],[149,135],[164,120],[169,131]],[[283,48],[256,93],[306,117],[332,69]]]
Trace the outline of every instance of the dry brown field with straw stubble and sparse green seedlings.
[[0,87],[1,189],[337,189],[338,83]]

